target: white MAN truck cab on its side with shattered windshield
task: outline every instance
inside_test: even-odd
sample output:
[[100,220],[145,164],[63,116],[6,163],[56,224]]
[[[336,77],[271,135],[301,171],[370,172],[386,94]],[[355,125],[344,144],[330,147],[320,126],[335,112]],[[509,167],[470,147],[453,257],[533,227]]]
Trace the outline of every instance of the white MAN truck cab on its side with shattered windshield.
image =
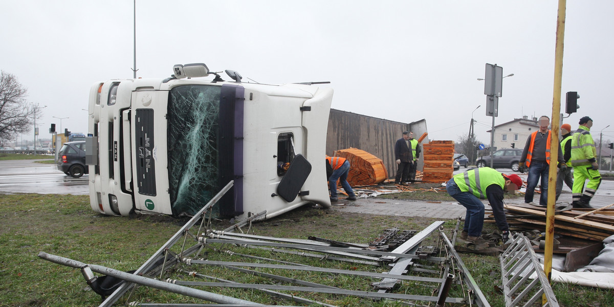
[[[228,82],[203,63],[173,72],[91,87],[86,146],[94,211],[190,216],[231,180],[218,217],[330,206],[324,157],[332,89],[246,83],[235,71],[225,71]],[[201,78],[209,75],[214,79]]]

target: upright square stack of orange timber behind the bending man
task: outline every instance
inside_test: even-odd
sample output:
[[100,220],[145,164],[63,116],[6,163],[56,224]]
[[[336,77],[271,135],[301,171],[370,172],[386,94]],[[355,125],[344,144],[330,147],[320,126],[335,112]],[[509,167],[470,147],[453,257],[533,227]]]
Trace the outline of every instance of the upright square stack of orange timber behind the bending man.
[[422,145],[424,176],[422,182],[445,182],[452,178],[454,141],[430,141]]

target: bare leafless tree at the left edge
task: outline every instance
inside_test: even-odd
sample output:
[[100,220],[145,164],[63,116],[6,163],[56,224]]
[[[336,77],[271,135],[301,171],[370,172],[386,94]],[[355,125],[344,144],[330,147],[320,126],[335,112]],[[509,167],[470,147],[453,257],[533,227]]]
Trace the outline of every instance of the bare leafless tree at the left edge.
[[[28,89],[19,83],[17,77],[1,71],[0,140],[14,140],[17,134],[32,129],[36,106],[28,103],[27,96]],[[40,113],[36,112],[36,115]]]

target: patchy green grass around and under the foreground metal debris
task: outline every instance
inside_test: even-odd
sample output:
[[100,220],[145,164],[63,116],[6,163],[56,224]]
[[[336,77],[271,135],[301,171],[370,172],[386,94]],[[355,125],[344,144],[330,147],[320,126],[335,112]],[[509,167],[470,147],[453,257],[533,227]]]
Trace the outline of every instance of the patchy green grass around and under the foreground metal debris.
[[[138,216],[107,217],[91,211],[88,196],[74,195],[36,195],[0,194],[0,305],[2,306],[97,306],[100,297],[88,289],[80,271],[63,265],[47,262],[37,257],[38,252],[59,255],[84,263],[94,263],[117,270],[138,268],[153,252],[176,233],[186,219],[170,217]],[[367,214],[348,214],[333,209],[303,207],[264,222],[254,223],[255,235],[302,238],[318,236],[321,238],[368,243],[389,227],[402,230],[422,230],[433,219],[411,219],[406,217],[370,216]],[[444,224],[445,232],[450,234],[456,225],[455,220]],[[223,229],[228,221],[214,221],[214,228]],[[492,231],[494,225],[486,224]],[[245,230],[245,228],[244,228]],[[449,235],[451,238],[451,235]],[[430,241],[433,240],[433,241]],[[429,238],[426,243],[436,243]],[[176,244],[178,248],[181,244]],[[345,270],[374,270],[371,266],[353,265],[332,260],[320,260],[297,255],[279,255],[270,251],[239,249],[238,247],[219,246],[243,254],[260,257],[279,257],[289,262],[325,265]],[[211,260],[239,260],[220,251],[206,250]],[[491,306],[503,307],[499,259],[497,257],[461,254],[465,265],[473,274]],[[182,266],[192,271],[191,266]],[[377,270],[386,271],[386,268]],[[203,273],[203,268],[200,268]],[[206,267],[206,274],[232,279],[239,282],[270,282],[266,279],[236,271],[216,267]],[[279,273],[278,270],[270,270]],[[294,272],[293,277],[312,282],[343,286],[345,289],[372,290],[367,280],[351,276],[329,273]],[[98,275],[98,274],[97,274]],[[209,281],[191,278],[185,273],[176,272],[174,278],[194,281]],[[234,290],[230,288],[207,289],[233,297],[266,304],[290,305],[286,301],[260,295],[256,291]],[[396,293],[433,295],[432,285],[403,282]],[[400,291],[400,292],[399,292]],[[453,295],[458,295],[453,290]],[[614,306],[614,293],[611,290],[591,287],[554,284],[554,291],[561,306]],[[297,293],[305,297],[305,293]],[[127,295],[119,302],[125,303]],[[341,295],[314,294],[314,299],[337,306],[396,306],[386,301],[371,301]],[[180,297],[173,293],[146,287],[138,287],[130,301],[150,303],[203,303],[203,301]],[[447,305],[446,306],[454,306]]]

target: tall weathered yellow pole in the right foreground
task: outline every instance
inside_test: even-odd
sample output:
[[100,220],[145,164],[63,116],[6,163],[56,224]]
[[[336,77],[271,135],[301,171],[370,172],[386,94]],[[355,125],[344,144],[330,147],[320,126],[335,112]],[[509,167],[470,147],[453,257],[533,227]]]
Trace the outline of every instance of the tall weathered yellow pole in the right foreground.
[[552,137],[550,144],[550,172],[548,173],[548,209],[546,210],[546,247],[544,249],[543,271],[551,281],[552,252],[554,239],[554,203],[556,202],[556,170],[559,154],[559,132],[561,129],[561,80],[563,75],[563,42],[565,37],[566,0],[559,0],[559,16],[556,20],[556,49],[554,51],[554,90],[552,98]]

